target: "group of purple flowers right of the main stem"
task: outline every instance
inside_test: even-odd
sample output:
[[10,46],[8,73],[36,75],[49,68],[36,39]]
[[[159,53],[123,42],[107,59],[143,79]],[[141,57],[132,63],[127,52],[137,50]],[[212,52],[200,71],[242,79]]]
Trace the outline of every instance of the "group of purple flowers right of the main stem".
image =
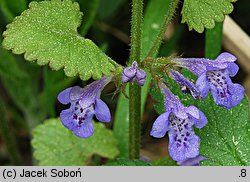
[[[204,99],[211,91],[217,105],[230,109],[244,97],[244,88],[230,79],[239,70],[234,61],[236,57],[230,53],[222,53],[215,60],[174,58],[171,62],[175,66],[187,68],[198,79],[194,84],[173,69],[168,70],[168,75],[181,87],[186,87],[194,99]],[[193,126],[204,127],[207,118],[195,106],[184,107],[163,82],[159,87],[164,95],[165,112],[156,119],[150,134],[161,138],[168,132],[170,156],[179,165],[198,165],[206,158],[199,155],[200,138],[195,135]]]

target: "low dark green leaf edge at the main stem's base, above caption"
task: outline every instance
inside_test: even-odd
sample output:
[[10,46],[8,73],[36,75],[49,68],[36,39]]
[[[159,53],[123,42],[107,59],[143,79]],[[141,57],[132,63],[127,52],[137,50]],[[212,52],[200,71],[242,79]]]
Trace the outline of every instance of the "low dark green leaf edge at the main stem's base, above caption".
[[151,166],[151,164],[138,159],[129,160],[124,158],[118,158],[114,161],[108,162],[106,166]]

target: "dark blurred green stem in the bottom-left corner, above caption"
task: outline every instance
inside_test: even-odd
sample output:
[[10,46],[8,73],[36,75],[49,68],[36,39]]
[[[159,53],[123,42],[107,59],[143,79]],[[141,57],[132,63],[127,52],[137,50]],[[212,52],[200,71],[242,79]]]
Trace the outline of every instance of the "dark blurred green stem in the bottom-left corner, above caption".
[[2,116],[0,121],[0,133],[3,137],[3,141],[8,150],[12,165],[21,165],[22,164],[21,155],[17,148],[14,135],[10,131],[9,124],[5,118],[5,107],[2,101],[0,101],[0,114]]

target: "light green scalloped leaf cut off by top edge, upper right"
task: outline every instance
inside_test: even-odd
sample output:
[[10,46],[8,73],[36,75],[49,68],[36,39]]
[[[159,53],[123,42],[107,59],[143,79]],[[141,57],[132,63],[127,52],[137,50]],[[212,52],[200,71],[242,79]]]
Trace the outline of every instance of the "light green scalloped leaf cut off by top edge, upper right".
[[189,30],[199,33],[204,28],[213,28],[215,22],[222,22],[224,15],[233,11],[232,2],[237,0],[184,0],[182,23],[187,23]]

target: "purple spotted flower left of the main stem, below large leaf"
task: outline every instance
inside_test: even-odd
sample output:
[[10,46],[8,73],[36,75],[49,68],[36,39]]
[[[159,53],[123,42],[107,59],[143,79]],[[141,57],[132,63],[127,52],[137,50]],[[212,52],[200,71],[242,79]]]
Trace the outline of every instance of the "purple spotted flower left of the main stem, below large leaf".
[[60,113],[62,124],[80,138],[94,133],[92,118],[95,115],[101,122],[109,122],[111,114],[108,106],[100,99],[101,91],[111,81],[104,76],[84,88],[74,86],[63,90],[57,97],[62,104],[71,104]]

